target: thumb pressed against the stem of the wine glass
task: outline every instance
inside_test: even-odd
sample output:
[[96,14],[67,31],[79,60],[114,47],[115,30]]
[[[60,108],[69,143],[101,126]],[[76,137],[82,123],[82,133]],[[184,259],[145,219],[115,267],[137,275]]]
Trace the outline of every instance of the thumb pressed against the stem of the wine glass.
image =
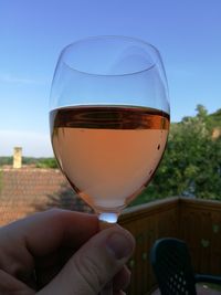
[[39,295],[97,295],[127,262],[134,245],[131,234],[118,225],[98,232]]

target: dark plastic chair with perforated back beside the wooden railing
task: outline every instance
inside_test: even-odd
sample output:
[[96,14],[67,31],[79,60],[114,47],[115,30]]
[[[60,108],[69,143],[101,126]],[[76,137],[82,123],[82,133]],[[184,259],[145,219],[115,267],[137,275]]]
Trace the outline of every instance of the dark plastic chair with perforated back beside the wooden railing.
[[221,276],[194,274],[188,246],[172,238],[157,240],[150,251],[150,263],[161,295],[196,295],[196,283],[221,285]]

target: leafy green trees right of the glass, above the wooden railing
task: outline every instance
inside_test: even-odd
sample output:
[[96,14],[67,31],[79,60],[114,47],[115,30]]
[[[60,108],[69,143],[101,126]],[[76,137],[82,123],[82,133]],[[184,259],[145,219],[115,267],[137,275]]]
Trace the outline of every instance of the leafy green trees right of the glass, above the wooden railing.
[[221,110],[208,115],[199,105],[197,112],[171,124],[158,171],[133,204],[171,196],[221,200],[221,136],[211,133],[221,128]]

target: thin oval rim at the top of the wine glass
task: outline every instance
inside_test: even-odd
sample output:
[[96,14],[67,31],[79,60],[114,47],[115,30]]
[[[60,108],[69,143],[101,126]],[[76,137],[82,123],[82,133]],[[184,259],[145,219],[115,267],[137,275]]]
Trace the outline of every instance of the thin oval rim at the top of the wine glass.
[[[92,36],[86,36],[86,38],[78,39],[78,40],[67,44],[65,48],[63,48],[63,50],[62,50],[62,52],[60,54],[60,59],[62,60],[62,56],[64,56],[65,52],[69,49],[73,48],[73,46],[75,46],[75,45],[77,45],[80,43],[83,43],[83,42],[86,42],[86,41],[90,41],[90,40],[98,40],[98,39],[101,39],[101,40],[102,39],[109,39],[109,40],[110,39],[118,39],[118,40],[127,40],[127,41],[130,41],[130,42],[134,41],[134,42],[136,42],[138,44],[143,44],[143,45],[151,49],[155,52],[157,59],[159,59],[159,62],[162,63],[161,62],[161,55],[160,55],[158,49],[155,45],[152,45],[151,43],[146,42],[146,41],[139,39],[139,38],[126,36],[126,35],[92,35]],[[154,69],[157,65],[157,59],[156,59],[156,61],[152,61],[151,65],[149,65],[147,67],[144,67],[143,70],[128,71],[128,72],[125,72],[123,74],[113,74],[113,73],[110,73],[110,74],[102,74],[102,73],[86,72],[86,71],[81,71],[81,70],[70,65],[67,62],[65,62],[65,60],[63,60],[62,63],[65,66],[67,66],[70,70],[78,72],[81,74],[85,74],[85,75],[90,75],[90,76],[104,76],[104,77],[112,77],[113,76],[113,77],[115,77],[115,76],[129,76],[129,75],[136,75],[136,74],[140,74],[140,73],[144,73],[144,72],[148,72],[148,71],[150,71],[151,69]],[[161,64],[161,66],[164,66],[164,65]]]

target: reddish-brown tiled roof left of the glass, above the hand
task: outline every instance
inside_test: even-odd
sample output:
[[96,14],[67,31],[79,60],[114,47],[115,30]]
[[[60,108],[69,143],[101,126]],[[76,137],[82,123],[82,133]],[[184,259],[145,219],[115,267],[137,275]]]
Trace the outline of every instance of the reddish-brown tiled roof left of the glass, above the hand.
[[0,225],[54,207],[91,211],[57,169],[1,169]]

